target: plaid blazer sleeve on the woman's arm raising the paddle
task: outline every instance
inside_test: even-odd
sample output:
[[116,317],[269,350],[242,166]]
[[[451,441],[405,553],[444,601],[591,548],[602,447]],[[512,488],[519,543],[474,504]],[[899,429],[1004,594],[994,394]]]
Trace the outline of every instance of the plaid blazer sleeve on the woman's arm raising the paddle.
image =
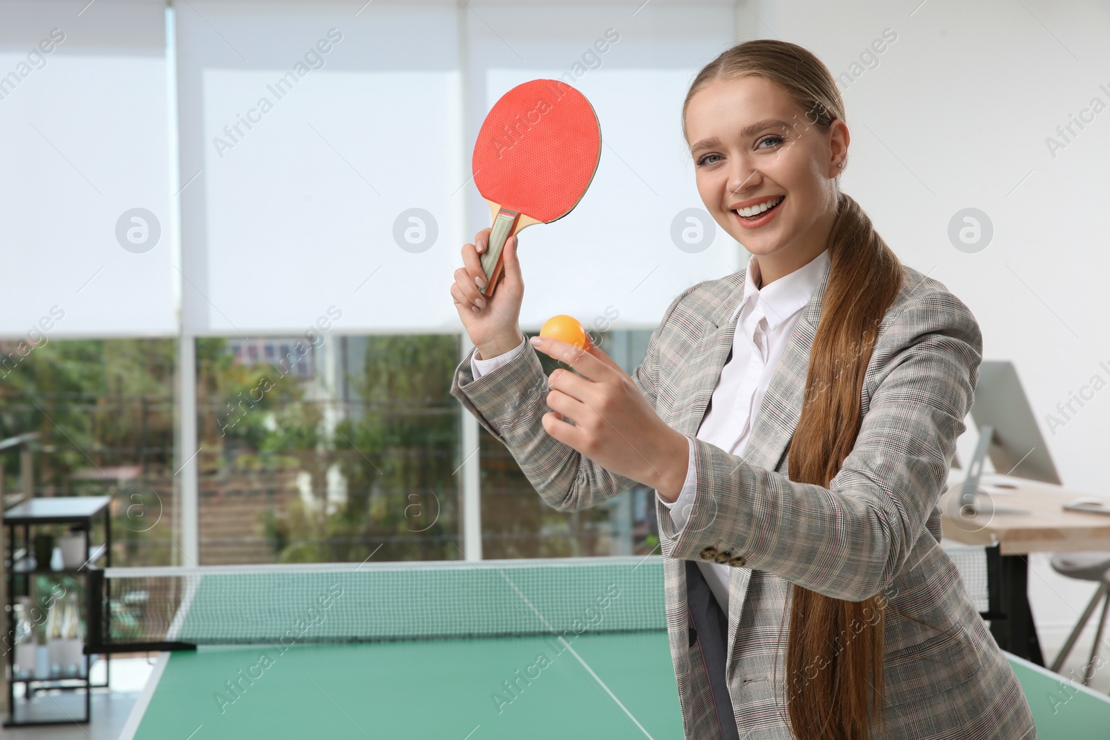
[[[675,306],[698,285],[687,288],[672,301],[648,339],[644,362],[632,373],[633,382],[653,408],[657,407],[656,352],[660,336]],[[471,357],[475,352],[472,349],[455,369],[451,395],[458,398],[478,423],[508,448],[548,506],[559,511],[577,511],[636,485],[632,478],[606,470],[544,429],[543,415],[553,410],[547,406],[551,388],[532,344],[525,343],[523,353],[476,381],[471,368]]]

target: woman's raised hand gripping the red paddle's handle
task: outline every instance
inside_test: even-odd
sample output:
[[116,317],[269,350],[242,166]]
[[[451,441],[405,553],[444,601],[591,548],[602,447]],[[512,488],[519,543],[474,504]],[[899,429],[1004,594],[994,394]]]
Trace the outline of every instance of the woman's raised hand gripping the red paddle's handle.
[[519,346],[522,333],[517,326],[521,303],[524,300],[524,280],[516,259],[516,236],[505,242],[504,274],[492,298],[482,294],[486,276],[480,255],[490,243],[492,229],[483,229],[474,236],[474,244],[463,245],[463,265],[455,271],[451,295],[455,300],[458,318],[463,322],[471,342],[478,349],[480,359],[490,359]]

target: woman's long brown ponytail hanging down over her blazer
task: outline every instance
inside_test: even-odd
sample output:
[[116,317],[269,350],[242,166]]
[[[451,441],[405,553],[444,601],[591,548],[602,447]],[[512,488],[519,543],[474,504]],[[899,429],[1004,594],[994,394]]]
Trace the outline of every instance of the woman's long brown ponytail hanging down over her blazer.
[[[842,193],[829,260],[788,466],[790,480],[825,487],[855,446],[864,374],[878,325],[902,281],[897,256],[859,204]],[[798,738],[866,740],[869,726],[884,724],[885,606],[881,596],[846,601],[790,587],[787,711]]]

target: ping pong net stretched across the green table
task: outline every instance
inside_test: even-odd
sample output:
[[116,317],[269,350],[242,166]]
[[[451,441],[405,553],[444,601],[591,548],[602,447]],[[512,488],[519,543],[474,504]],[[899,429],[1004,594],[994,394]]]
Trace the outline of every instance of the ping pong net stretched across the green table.
[[85,652],[665,629],[659,556],[107,568]]

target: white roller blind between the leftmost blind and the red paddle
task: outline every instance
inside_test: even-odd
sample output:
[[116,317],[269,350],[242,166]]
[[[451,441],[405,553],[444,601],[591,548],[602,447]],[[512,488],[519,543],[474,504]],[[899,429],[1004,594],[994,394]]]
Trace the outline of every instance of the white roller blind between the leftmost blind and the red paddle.
[[179,10],[186,331],[457,331],[458,11],[357,10]]

